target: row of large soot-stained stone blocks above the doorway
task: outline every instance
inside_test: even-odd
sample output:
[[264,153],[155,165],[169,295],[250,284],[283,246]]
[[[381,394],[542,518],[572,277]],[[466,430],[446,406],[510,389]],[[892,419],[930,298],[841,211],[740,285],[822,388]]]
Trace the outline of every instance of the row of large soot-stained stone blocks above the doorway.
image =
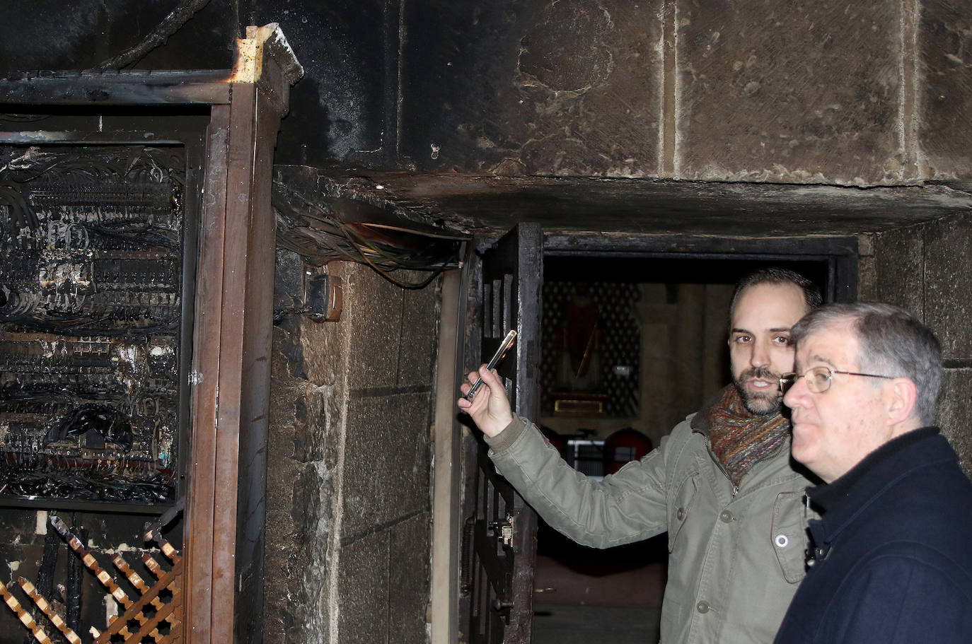
[[[420,170],[848,186],[972,176],[972,17],[955,3],[437,4],[403,14],[399,157]],[[442,37],[415,37],[430,32]]]

